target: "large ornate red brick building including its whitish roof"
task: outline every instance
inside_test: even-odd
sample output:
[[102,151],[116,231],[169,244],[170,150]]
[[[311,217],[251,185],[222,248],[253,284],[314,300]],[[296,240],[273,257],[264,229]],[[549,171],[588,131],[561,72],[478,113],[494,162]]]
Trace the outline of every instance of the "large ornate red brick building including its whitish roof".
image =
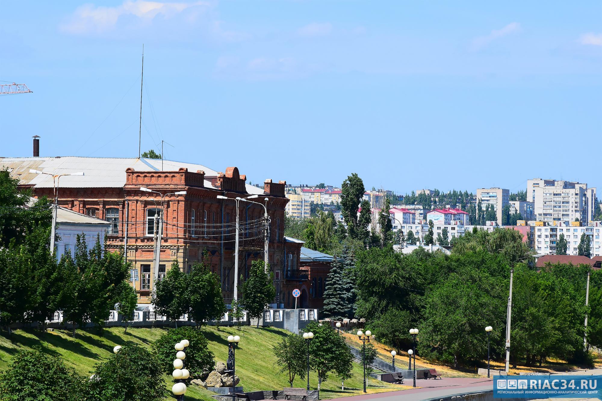
[[[161,210],[159,278],[173,261],[186,271],[207,252],[206,262],[220,276],[223,295],[229,303],[234,284],[234,199],[255,194],[258,197],[250,200],[267,205],[269,262],[275,273],[278,302],[284,299],[282,278],[287,264],[299,264],[299,249],[291,247],[285,254],[284,213],[288,202],[285,181],[276,183],[268,179],[264,188],[259,188],[246,184],[246,176],[237,167],[228,167],[222,173],[200,164],[147,158],[0,158],[0,169],[8,169],[22,187],[32,188],[36,197],[51,198],[52,176],[30,173],[29,169],[54,174],[84,172],[84,176],[60,178],[58,204],[112,222],[107,232],[110,249],[122,250],[127,237],[126,256],[133,266],[131,282],[141,303],[149,302],[155,279],[154,216]],[[173,194],[178,191],[186,194]],[[218,195],[232,200],[217,199]],[[238,272],[246,277],[251,262],[264,258],[264,207],[241,201],[238,213],[241,227]]]

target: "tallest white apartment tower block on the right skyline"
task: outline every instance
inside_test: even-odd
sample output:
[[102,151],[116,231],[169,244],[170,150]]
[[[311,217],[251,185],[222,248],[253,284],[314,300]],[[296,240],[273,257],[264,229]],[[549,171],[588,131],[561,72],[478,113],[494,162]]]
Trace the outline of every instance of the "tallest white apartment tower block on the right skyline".
[[542,222],[587,223],[595,214],[596,188],[553,179],[527,181],[527,200],[533,199],[535,219]]

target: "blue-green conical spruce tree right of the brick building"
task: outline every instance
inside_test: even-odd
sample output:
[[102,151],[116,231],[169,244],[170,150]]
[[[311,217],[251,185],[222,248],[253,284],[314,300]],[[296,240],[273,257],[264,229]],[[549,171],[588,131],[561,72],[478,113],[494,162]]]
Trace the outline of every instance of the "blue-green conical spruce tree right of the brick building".
[[[340,261],[342,259],[343,261]],[[324,306],[322,313],[332,319],[344,319],[353,316],[353,256],[347,244],[339,258],[331,264],[328,272],[326,290],[324,290]]]

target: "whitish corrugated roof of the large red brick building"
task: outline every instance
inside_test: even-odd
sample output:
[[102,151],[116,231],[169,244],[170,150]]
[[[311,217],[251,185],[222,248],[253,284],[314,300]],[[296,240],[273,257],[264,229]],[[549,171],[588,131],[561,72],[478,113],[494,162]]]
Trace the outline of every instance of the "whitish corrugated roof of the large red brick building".
[[[54,184],[51,176],[29,173],[29,169],[53,174],[84,173],[84,176],[61,177],[60,186],[63,188],[121,188],[125,185],[125,170],[128,167],[135,171],[159,171],[161,170],[161,160],[78,156],[0,159],[0,169],[7,168],[13,177],[19,178],[20,184],[31,184],[34,188],[52,188]],[[191,172],[203,170],[206,176],[217,175],[216,170],[209,169],[202,164],[163,160],[164,171],[177,171],[180,168],[187,168]],[[214,188],[208,180],[205,180],[205,187]],[[246,184],[246,189],[250,194],[264,194],[261,188],[254,185]]]

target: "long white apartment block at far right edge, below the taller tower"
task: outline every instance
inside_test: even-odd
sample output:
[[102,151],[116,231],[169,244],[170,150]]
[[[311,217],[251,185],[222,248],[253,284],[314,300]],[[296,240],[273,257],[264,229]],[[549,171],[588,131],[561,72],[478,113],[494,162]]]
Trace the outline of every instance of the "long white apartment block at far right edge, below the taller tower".
[[579,255],[577,247],[583,234],[589,237],[592,256],[601,256],[602,248],[600,244],[600,226],[570,226],[565,222],[559,222],[556,226],[533,226],[535,231],[534,248],[537,253],[542,255],[552,255],[556,253],[556,242],[563,234],[566,240],[566,254]]

